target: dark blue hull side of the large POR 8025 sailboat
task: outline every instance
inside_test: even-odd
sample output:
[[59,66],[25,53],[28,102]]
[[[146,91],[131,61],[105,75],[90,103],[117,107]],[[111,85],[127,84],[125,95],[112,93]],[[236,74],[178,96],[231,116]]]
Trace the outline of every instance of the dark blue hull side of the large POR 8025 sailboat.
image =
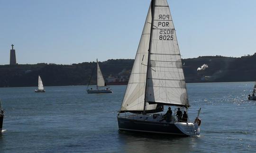
[[174,123],[162,123],[118,117],[118,126],[120,130],[186,136],[186,134],[184,134]]

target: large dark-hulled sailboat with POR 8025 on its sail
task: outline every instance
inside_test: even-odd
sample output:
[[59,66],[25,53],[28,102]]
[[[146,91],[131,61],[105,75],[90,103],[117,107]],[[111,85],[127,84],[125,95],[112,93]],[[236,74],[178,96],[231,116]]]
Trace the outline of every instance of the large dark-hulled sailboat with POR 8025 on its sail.
[[[173,20],[166,0],[151,0],[117,119],[119,130],[183,136],[200,134],[201,119],[178,119],[164,106],[188,111],[186,83]],[[171,115],[170,115],[171,114]],[[187,113],[186,113],[187,114]]]

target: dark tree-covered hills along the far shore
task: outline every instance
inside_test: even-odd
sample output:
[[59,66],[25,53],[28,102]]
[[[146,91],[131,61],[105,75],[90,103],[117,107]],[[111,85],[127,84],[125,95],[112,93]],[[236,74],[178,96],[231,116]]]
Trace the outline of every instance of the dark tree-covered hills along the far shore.
[[[223,56],[201,56],[183,59],[183,70],[187,83],[192,82],[237,82],[256,81],[256,53],[240,58]],[[104,78],[119,76],[131,70],[134,59],[109,59],[99,62]],[[208,68],[197,71],[207,64]],[[87,85],[91,74],[91,84],[96,84],[96,62],[83,62],[72,65],[47,63],[0,65],[0,87],[37,86],[38,75],[45,86]],[[130,71],[129,71],[130,72]],[[129,73],[123,74],[124,77]]]

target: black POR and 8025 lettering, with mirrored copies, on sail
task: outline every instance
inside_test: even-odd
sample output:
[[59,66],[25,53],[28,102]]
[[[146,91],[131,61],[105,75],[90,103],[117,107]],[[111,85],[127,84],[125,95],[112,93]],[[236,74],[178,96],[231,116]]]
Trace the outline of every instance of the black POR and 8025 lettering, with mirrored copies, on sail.
[[[160,14],[158,16],[159,20],[170,20],[170,15],[162,15]],[[158,22],[158,26],[162,26],[162,27],[169,27],[169,22]],[[170,30],[170,29],[161,29],[159,32],[159,40],[174,40],[174,30]]]

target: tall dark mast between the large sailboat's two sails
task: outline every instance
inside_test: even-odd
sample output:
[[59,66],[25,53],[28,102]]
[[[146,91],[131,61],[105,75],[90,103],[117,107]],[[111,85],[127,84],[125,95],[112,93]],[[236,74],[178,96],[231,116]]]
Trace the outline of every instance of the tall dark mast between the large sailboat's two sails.
[[152,33],[153,33],[153,26],[154,26],[154,16],[155,16],[155,0],[151,0],[151,29],[150,29],[150,38],[149,38],[149,48],[148,48],[148,55],[147,55],[147,69],[146,69],[146,85],[145,85],[145,97],[144,97],[144,108],[143,114],[146,114],[146,95],[147,95],[147,78],[148,78],[148,70],[150,68],[150,54],[151,54],[151,43],[152,43]]

